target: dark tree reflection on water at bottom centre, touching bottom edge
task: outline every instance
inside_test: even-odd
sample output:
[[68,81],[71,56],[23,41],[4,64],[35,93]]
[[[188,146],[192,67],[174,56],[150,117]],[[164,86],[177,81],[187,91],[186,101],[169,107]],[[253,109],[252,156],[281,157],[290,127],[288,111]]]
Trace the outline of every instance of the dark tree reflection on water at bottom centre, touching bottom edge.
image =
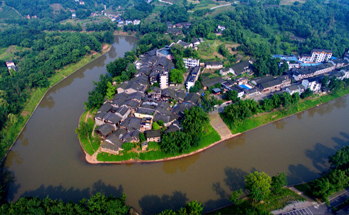
[[158,214],[166,209],[178,210],[187,204],[187,194],[180,191],[174,191],[172,196],[162,195],[160,198],[156,195],[145,195],[139,200],[142,208],[141,214]]

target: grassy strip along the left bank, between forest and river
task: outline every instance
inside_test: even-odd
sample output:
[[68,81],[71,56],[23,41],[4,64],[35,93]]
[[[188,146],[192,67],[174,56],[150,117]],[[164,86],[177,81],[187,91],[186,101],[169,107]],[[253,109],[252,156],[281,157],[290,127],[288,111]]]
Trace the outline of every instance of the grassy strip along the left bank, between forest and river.
[[92,52],[88,55],[85,55],[76,64],[65,66],[63,69],[56,71],[56,74],[48,79],[48,82],[49,82],[48,87],[37,88],[35,90],[32,90],[32,92],[30,93],[31,96],[27,100],[27,103],[25,104],[22,112],[20,114],[18,114],[18,116],[17,116],[18,121],[14,124],[7,122],[7,125],[3,129],[3,131],[6,131],[6,133],[4,133],[2,136],[3,139],[1,140],[1,145],[6,146],[6,151],[4,152],[4,154],[1,157],[1,164],[4,161],[5,157],[7,156],[7,154],[9,153],[9,151],[12,149],[12,147],[15,144],[16,140],[18,139],[19,135],[22,133],[23,129],[27,125],[29,119],[34,114],[36,108],[39,106],[40,102],[47,94],[48,90],[51,89],[56,84],[63,81],[68,76],[75,73],[81,67],[95,61],[99,57],[108,53],[109,50],[111,49],[111,46],[112,46],[112,44],[104,44],[103,50],[101,53]]

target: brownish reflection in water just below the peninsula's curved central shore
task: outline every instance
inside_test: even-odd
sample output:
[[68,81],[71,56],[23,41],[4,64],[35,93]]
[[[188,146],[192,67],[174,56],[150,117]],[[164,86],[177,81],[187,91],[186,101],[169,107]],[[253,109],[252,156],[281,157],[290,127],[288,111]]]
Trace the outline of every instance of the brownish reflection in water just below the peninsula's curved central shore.
[[174,174],[179,169],[181,172],[186,172],[190,165],[195,164],[195,162],[200,158],[200,153],[191,155],[186,158],[176,159],[172,161],[163,162],[162,169],[167,174]]

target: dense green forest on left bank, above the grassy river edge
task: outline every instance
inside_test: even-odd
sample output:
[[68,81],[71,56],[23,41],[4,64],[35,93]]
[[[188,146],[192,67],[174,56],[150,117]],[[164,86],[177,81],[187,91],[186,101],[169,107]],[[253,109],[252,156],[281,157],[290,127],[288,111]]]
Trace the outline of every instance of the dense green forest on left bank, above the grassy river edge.
[[[1,34],[4,32],[1,32]],[[15,37],[17,36],[17,37]],[[6,38],[5,35],[2,38]],[[14,38],[1,40],[1,47],[16,45],[22,47],[15,52],[18,71],[8,71],[4,61],[0,60],[0,128],[10,116],[18,115],[29,98],[32,90],[48,86],[50,78],[57,69],[76,63],[91,51],[100,51],[101,43],[111,43],[112,33],[69,33],[43,32],[27,29],[16,33]],[[11,121],[16,121],[12,119]],[[1,154],[8,143],[1,141]]]

